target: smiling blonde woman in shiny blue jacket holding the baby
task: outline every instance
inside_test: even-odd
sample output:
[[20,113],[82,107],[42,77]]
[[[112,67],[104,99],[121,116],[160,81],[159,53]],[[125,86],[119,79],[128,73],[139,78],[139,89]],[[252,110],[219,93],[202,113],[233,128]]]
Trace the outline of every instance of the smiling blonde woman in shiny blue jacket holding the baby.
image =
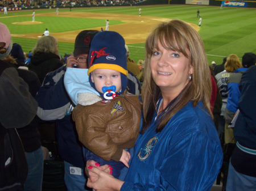
[[203,42],[191,26],[172,20],[156,27],[145,46],[143,124],[125,181],[88,161],[87,185],[97,191],[210,190],[222,150]]

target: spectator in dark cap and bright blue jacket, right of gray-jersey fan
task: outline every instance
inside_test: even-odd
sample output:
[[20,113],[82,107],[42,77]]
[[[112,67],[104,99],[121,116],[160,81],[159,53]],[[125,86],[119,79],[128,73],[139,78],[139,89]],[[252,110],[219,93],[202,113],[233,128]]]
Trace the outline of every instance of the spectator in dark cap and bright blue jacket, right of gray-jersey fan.
[[[228,101],[226,104],[226,110],[224,112],[225,118],[225,143],[235,143],[233,128],[228,128],[230,122],[232,121],[234,114],[238,109],[238,100],[240,98],[241,92],[239,90],[239,84],[242,77],[242,74],[250,67],[255,64],[255,54],[254,53],[245,53],[242,57],[243,67],[238,68],[234,71],[233,74],[229,76],[228,79]],[[227,60],[228,61],[228,60]],[[239,58],[237,57],[237,62]],[[240,61],[239,61],[240,62]]]

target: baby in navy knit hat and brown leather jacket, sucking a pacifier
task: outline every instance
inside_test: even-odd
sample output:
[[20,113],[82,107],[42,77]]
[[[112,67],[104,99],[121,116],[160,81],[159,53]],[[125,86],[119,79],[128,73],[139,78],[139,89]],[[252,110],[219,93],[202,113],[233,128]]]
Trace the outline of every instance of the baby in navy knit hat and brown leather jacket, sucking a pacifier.
[[139,97],[126,91],[125,40],[117,32],[97,33],[88,62],[89,82],[100,94],[100,101],[78,104],[72,111],[73,120],[86,148],[85,158],[111,165],[110,174],[118,178],[121,170],[129,167],[131,154],[125,149],[135,145],[141,116]]

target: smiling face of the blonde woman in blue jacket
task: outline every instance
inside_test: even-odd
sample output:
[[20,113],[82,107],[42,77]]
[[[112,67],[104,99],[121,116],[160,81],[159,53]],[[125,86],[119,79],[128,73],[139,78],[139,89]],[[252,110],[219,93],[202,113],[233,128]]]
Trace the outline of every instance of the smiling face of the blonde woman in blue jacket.
[[[152,78],[160,90],[175,91],[179,94],[188,83],[188,76],[193,73],[193,67],[184,54],[167,50],[160,43],[158,46],[159,50],[153,50],[150,60]],[[189,55],[189,50],[187,54]]]

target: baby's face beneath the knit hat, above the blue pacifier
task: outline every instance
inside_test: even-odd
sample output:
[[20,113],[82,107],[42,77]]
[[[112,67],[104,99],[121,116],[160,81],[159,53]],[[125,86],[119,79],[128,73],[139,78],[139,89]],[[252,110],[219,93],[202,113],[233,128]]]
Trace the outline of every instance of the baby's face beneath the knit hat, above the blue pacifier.
[[118,92],[122,88],[121,73],[116,70],[109,69],[95,69],[92,71],[92,82],[94,83],[98,92],[102,94],[102,87],[115,86],[115,92]]

